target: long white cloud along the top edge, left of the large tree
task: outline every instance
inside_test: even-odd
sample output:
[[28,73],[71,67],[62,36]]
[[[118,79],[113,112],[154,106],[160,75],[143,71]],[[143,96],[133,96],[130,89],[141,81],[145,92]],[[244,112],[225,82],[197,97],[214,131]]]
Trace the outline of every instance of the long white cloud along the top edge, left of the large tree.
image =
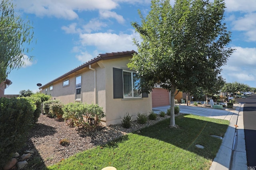
[[14,3],[25,13],[66,20],[78,18],[76,11],[112,10],[118,6],[113,0],[15,0]]

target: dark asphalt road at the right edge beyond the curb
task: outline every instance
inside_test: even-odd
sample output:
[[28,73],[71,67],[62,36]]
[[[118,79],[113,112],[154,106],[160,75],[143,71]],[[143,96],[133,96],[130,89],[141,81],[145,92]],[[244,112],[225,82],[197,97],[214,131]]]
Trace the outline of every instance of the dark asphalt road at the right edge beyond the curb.
[[256,170],[256,94],[236,101],[244,103],[244,137],[248,170]]

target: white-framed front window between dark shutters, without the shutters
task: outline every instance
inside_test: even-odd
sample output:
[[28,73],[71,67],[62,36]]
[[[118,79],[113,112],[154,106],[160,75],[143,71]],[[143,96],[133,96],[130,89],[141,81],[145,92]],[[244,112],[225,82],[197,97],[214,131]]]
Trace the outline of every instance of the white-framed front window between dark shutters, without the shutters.
[[136,72],[123,70],[123,94],[124,98],[140,98],[140,79]]

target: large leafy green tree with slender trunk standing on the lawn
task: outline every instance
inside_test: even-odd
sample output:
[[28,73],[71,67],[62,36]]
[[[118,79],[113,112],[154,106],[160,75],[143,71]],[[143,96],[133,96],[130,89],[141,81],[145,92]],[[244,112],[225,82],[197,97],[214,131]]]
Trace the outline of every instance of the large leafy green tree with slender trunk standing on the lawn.
[[141,24],[132,23],[141,40],[134,39],[138,53],[128,67],[143,80],[142,92],[155,85],[170,91],[170,127],[176,126],[176,89],[212,86],[233,52],[226,47],[231,33],[223,22],[224,8],[224,0],[176,0],[173,7],[169,0],[152,0],[146,18],[138,11]]

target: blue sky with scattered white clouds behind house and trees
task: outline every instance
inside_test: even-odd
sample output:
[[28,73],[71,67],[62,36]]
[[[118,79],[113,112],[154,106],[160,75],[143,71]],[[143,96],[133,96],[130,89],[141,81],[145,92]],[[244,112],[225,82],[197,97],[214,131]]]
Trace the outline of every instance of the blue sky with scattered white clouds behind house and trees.
[[[211,0],[213,1],[213,0]],[[34,27],[34,56],[26,66],[12,70],[5,94],[37,92],[46,84],[97,57],[100,53],[135,50],[139,39],[131,26],[146,16],[150,0],[13,0],[17,14]],[[256,87],[256,0],[225,0],[225,22],[236,51],[222,67],[226,82]],[[171,0],[174,4],[174,0]]]

